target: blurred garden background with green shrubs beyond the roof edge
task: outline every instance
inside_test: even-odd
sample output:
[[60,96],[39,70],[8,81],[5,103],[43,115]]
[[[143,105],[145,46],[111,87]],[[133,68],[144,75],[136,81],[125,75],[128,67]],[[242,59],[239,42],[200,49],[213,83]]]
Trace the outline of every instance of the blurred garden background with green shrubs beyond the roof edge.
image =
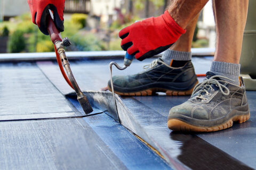
[[[71,39],[77,41],[74,43],[75,47],[70,50],[121,50],[118,31],[135,20],[161,15],[169,2],[169,0],[66,0],[63,35],[71,36]],[[0,45],[0,53],[53,50],[49,38],[44,38],[41,32],[38,32],[36,26],[29,21],[29,17],[27,0],[0,1],[0,40],[4,42]],[[12,38],[13,33],[16,33],[15,37],[17,35],[22,37],[19,40],[14,36]],[[82,36],[85,38],[82,39]],[[21,39],[25,42],[23,45],[25,47],[11,50],[10,48],[15,45],[13,41],[17,41],[20,45]],[[215,23],[211,1],[206,4],[199,16],[193,40],[193,47],[215,46]],[[46,41],[49,47],[46,47]],[[97,43],[92,44],[92,42]]]

